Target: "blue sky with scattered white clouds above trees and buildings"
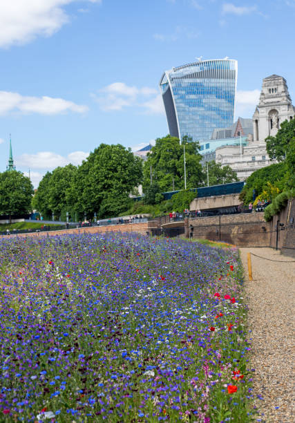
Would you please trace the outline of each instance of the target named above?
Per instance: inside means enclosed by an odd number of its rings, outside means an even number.
[[[162,72],[200,56],[238,60],[236,116],[273,73],[295,103],[294,19],[295,0],[1,1],[0,171],[10,133],[35,186],[101,142],[166,135]]]

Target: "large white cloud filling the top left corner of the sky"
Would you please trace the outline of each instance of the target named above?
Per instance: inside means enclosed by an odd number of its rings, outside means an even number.
[[[50,37],[69,21],[65,6],[76,0],[1,1],[0,47],[27,44],[38,35]],[[102,0],[83,0],[101,3]]]

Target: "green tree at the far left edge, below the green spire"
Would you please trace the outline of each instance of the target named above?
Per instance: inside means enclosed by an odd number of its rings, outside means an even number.
[[[34,189],[30,178],[19,171],[0,173],[0,214],[26,214],[31,209]]]

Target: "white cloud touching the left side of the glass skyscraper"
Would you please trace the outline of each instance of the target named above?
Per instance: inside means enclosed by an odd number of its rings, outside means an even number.
[[[158,90],[148,86],[137,88],[124,82],[114,82],[99,90],[98,94],[92,94],[92,97],[103,111],[120,111],[126,107],[137,107],[145,109],[146,113],[162,113],[157,93]]]

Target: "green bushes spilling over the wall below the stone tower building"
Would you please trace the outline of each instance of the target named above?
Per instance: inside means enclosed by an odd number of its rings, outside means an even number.
[[[253,189],[255,189],[256,196],[259,196],[263,189],[267,187],[267,182],[272,185],[276,183],[279,191],[283,191],[289,178],[287,172],[287,165],[285,162],[271,164],[253,172],[247,178],[246,185],[240,194],[240,200],[244,204],[249,204],[253,200]]]

